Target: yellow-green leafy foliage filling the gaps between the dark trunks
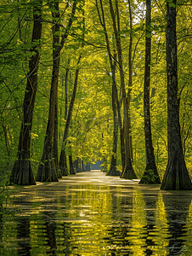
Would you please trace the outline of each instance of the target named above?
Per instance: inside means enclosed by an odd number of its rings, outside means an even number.
[[[60,55],[59,67],[59,151],[65,130],[65,74],[69,68],[68,100],[75,79],[76,62],[82,52],[76,102],[73,110],[70,134],[74,156],[85,162],[104,159],[109,168],[113,141],[113,113],[111,104],[111,74],[104,32],[94,1],[78,1],[74,24]],[[188,3],[188,1],[185,1]],[[0,174],[14,163],[17,154],[22,102],[25,93],[26,74],[31,49],[32,6],[34,1],[0,1]],[[60,35],[65,32],[71,14],[69,6],[59,2]],[[115,50],[116,42],[111,29],[108,1],[103,1],[110,47]],[[114,2],[115,3],[115,2]],[[170,2],[171,3],[171,2]],[[84,5],[83,5],[84,4]],[[133,167],[138,177],[144,170],[144,4],[131,1],[133,30],[129,29],[126,1],[119,1],[120,30],[123,69],[128,89],[128,44],[133,35],[133,87],[131,90],[131,119],[133,138]],[[184,155],[189,172],[192,172],[192,119],[191,113],[191,32],[192,15],[190,5],[178,5],[178,98],[180,99],[180,124]],[[50,81],[52,76],[52,17],[48,3],[43,3],[41,61],[38,69],[38,88],[31,131],[31,163],[34,172],[41,158],[44,134],[48,120]],[[155,160],[161,177],[167,165],[167,80],[166,80],[166,3],[152,1],[152,58],[151,58],[151,123],[155,149]],[[85,26],[82,20],[85,19]],[[186,22],[188,20],[188,22]],[[84,32],[82,45],[82,31]],[[114,54],[114,52],[113,52]],[[120,88],[118,63],[116,81]],[[121,91],[118,91],[121,96]],[[122,109],[121,109],[122,111]],[[118,170],[121,170],[120,139],[117,150]],[[153,177],[150,177],[153,178]]]

